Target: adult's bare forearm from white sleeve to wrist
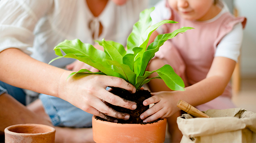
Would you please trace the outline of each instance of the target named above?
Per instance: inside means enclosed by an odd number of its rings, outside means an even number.
[[[52,96],[58,96],[59,79],[66,73],[15,48],[0,52],[0,67],[1,81]]]

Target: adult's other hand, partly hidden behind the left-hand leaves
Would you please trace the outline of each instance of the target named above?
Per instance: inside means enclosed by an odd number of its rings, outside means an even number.
[[[84,62],[81,62],[79,60],[75,60],[75,62],[73,62],[69,65],[66,65],[66,69],[72,70],[72,71],[79,71],[80,69],[88,69],[89,71],[92,71],[92,72],[99,71],[98,69],[95,69],[94,67],[92,67]]]

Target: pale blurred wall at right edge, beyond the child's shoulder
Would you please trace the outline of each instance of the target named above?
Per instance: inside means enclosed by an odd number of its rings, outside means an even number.
[[[234,0],[240,16],[247,18],[241,49],[242,78],[256,78],[256,0]]]

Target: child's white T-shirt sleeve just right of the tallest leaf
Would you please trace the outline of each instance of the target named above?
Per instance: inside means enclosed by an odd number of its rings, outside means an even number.
[[[167,7],[165,7],[166,0],[161,0],[155,5],[154,11],[150,13],[152,18],[152,25],[162,21],[167,20],[171,17],[171,11]],[[160,26],[156,29],[158,34],[163,34],[163,28]]]

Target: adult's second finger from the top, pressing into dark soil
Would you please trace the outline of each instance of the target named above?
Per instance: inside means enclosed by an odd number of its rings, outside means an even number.
[[[126,101],[123,98],[120,98],[119,96],[116,96],[115,94],[112,94],[111,92],[109,92],[107,90],[100,90],[100,91],[101,91],[101,96],[99,98],[101,98],[102,100],[104,100],[107,103],[110,103],[110,104],[116,105],[116,106],[120,106],[120,107],[124,107],[127,109],[131,109],[131,110],[134,110],[137,107],[135,102]]]

